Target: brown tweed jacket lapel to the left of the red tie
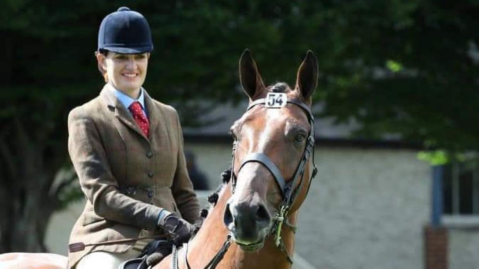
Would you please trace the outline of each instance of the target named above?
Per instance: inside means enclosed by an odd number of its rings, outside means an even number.
[[[134,121],[133,116],[131,116],[131,113],[126,110],[123,104],[121,104],[120,100],[115,97],[108,84],[105,84],[105,86],[100,92],[100,96],[105,101],[109,110],[113,110],[115,112],[116,118],[118,118],[124,125],[138,132],[139,135],[147,139],[138,124],[136,124],[136,122]]]

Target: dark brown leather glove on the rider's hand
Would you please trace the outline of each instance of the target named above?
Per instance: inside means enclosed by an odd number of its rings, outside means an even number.
[[[193,236],[195,227],[179,217],[177,213],[170,213],[160,222],[160,227],[173,236],[173,243],[181,246]]]

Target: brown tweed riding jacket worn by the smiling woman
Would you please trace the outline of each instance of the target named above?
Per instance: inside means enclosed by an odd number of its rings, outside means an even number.
[[[183,135],[174,108],[145,91],[149,137],[115,97],[110,85],[68,117],[68,148],[85,208],[70,235],[70,244],[136,238],[141,229],[157,229],[161,209],[178,212],[193,223],[199,205],[186,170]],[[88,246],[69,252],[69,268],[87,253],[124,253],[135,242]]]

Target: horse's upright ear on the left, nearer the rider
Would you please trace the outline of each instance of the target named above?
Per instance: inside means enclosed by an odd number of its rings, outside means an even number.
[[[243,52],[240,58],[240,82],[250,99],[253,99],[259,90],[264,88],[256,62],[251,57],[248,49]]]

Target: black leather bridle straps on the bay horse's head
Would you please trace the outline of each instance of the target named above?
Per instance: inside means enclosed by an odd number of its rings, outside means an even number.
[[[249,111],[250,109],[252,109],[253,107],[258,106],[258,105],[265,105],[266,102],[267,102],[266,98],[257,99],[248,106],[248,109],[246,111]],[[306,169],[306,164],[307,164],[311,154],[313,154],[313,159],[312,159],[313,160],[313,172],[312,172],[311,178],[309,180],[309,185],[307,187],[307,192],[309,192],[311,182],[312,182],[313,178],[316,176],[316,174],[318,172],[318,169],[317,169],[316,164],[314,162],[314,145],[315,145],[314,122],[315,121],[314,121],[313,114],[311,113],[311,110],[308,106],[306,106],[304,103],[298,102],[297,100],[288,98],[287,103],[300,107],[306,113],[308,121],[311,125],[311,129],[310,129],[310,132],[309,132],[307,140],[306,140],[306,146],[304,148],[303,155],[301,157],[301,160],[300,160],[298,166],[296,167],[296,171],[294,173],[293,178],[288,183],[286,183],[283,175],[281,174],[281,172],[278,169],[278,167],[276,166],[276,164],[273,161],[271,161],[271,159],[266,154],[264,154],[262,152],[255,152],[255,153],[248,154],[245,157],[245,159],[243,160],[243,162],[241,163],[240,168],[238,169],[238,174],[240,174],[241,169],[245,166],[246,163],[248,163],[248,162],[259,162],[259,163],[263,164],[268,169],[268,171],[271,173],[271,175],[273,175],[273,177],[275,178],[276,183],[278,184],[278,186],[281,190],[283,200],[280,204],[280,208],[278,210],[278,213],[273,218],[275,223],[271,226],[271,229],[269,230],[268,235],[275,234],[275,245],[277,247],[279,247],[286,254],[288,260],[291,263],[293,263],[293,260],[292,260],[291,256],[289,255],[289,253],[286,251],[284,242],[281,238],[281,229],[282,229],[283,224],[285,224],[293,232],[295,232],[295,230],[296,230],[296,227],[294,227],[288,221],[288,213],[289,213],[289,210],[291,209],[291,206],[293,205],[295,199],[298,196],[299,190],[302,189],[302,186],[303,186],[303,183],[304,183],[304,180],[303,180],[304,171]],[[236,140],[233,142],[233,152],[232,152],[233,161],[231,163],[231,186],[232,186],[231,191],[232,191],[232,193],[234,193],[234,190],[236,188],[236,181],[237,181],[237,176],[234,173],[234,160],[235,160],[235,151],[236,151],[237,143],[238,142]],[[296,185],[298,187],[294,188],[294,186],[296,186]],[[306,192],[306,195],[307,195],[307,192]]]

